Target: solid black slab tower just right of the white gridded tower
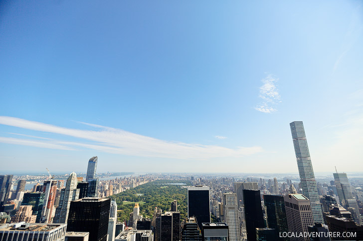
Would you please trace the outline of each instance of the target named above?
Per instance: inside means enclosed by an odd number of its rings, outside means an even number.
[[[243,190],[243,203],[248,241],[256,241],[256,228],[265,228],[259,190]]]

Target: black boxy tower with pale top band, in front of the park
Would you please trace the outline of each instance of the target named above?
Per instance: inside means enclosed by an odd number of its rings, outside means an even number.
[[[202,223],[210,223],[209,187],[188,187],[188,218],[194,216],[199,228]]]

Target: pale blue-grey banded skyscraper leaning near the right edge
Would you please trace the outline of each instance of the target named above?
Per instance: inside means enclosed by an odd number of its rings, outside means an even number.
[[[347,173],[333,173],[334,182],[337,187],[340,204],[346,209],[352,209],[352,216],[355,222],[363,225],[362,216],[359,211],[357,200],[353,197],[352,186],[349,183]]]

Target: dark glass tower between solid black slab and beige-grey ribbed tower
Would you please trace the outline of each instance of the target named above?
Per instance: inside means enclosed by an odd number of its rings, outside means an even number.
[[[267,213],[267,225],[275,229],[275,240],[287,241],[289,238],[280,238],[280,232],[289,232],[285,211],[284,197],[280,195],[263,195]]]

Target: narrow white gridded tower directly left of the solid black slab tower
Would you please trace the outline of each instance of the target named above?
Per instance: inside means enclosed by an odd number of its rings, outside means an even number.
[[[223,217],[228,225],[228,240],[240,241],[237,194],[223,193]]]

